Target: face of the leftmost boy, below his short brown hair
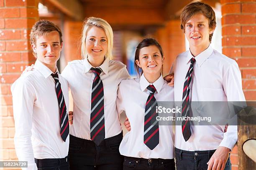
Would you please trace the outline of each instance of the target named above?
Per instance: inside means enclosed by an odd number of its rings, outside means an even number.
[[[51,31],[36,39],[32,44],[36,58],[48,67],[52,72],[56,70],[56,64],[60,57],[62,44],[60,44],[59,32]]]

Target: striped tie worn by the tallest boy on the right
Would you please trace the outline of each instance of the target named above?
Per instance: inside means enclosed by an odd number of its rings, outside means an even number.
[[[191,64],[189,66],[189,70],[187,71],[187,75],[186,75],[184,87],[183,87],[182,117],[190,117],[190,114],[189,114],[189,91],[190,91],[189,84],[192,80],[192,72],[193,72],[193,67],[194,67],[194,63],[195,63],[195,58],[191,58],[190,62],[191,62]],[[183,135],[185,141],[189,140],[189,138],[191,136],[189,120],[182,121],[182,135]]]

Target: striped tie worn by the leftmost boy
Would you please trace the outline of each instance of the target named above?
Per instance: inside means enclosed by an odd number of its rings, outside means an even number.
[[[56,72],[55,74],[52,73],[51,76],[55,80],[55,90],[56,90],[56,95],[59,103],[60,127],[61,127],[60,134],[61,134],[62,140],[66,142],[67,136],[69,135],[69,117],[67,114],[67,107],[64,100],[64,95],[61,90],[61,84],[59,82],[58,72]]]

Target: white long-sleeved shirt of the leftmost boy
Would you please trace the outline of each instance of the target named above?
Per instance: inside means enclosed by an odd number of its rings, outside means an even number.
[[[65,158],[68,155],[69,136],[66,142],[61,139],[59,104],[51,73],[36,60],[34,69],[24,73],[11,87],[15,150],[20,161],[28,161],[28,170],[37,170],[34,158]],[[68,110],[68,84],[61,75],[59,82]]]

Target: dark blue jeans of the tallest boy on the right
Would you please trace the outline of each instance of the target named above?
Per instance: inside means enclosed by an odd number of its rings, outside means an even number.
[[[206,164],[215,150],[186,151],[175,148],[175,160],[177,170],[207,170]],[[224,170],[231,170],[230,156]]]

